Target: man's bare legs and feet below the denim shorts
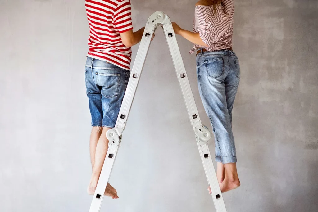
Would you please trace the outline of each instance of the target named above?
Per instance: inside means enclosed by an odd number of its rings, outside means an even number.
[[[107,127],[93,127],[92,133],[90,136],[90,155],[91,163],[93,167],[93,173],[91,181],[87,188],[87,193],[93,195],[97,186],[97,182],[100,176],[101,169],[103,167],[105,157],[108,149],[108,140],[106,138],[106,132],[110,128]],[[109,183],[105,190],[106,196],[110,196],[113,199],[117,199],[117,191]]]

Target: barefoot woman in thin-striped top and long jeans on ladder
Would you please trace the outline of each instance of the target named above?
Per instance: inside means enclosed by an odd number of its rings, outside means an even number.
[[[239,59],[232,51],[233,0],[200,0],[195,7],[193,32],[173,23],[176,34],[194,43],[197,81],[205,111],[213,126],[217,177],[222,192],[238,188],[232,109],[239,87]],[[210,187],[208,190],[211,193]]]

